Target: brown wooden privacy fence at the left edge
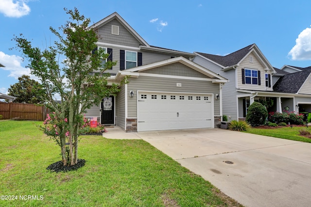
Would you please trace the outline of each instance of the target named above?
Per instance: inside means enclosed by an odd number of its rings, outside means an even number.
[[[44,121],[49,113],[43,105],[0,103],[2,119]]]

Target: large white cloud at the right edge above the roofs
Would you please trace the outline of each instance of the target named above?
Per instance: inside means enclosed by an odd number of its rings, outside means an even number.
[[[296,39],[296,45],[288,53],[292,60],[311,60],[311,28],[303,30]]]

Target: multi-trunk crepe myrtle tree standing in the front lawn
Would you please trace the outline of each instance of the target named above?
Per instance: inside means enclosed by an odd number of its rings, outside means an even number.
[[[96,29],[88,27],[90,19],[80,15],[76,8],[64,10],[69,15],[65,26],[58,30],[50,27],[52,34],[59,39],[53,46],[41,50],[32,46],[22,34],[13,39],[23,58],[29,62],[27,68],[47,90],[45,104],[52,113],[45,123],[52,123],[53,129],[47,124],[44,131],[60,146],[66,166],[77,164],[78,130],[86,109],[99,104],[104,97],[115,95],[119,86],[108,86],[109,74],[104,71],[116,62],[107,61],[103,65],[102,60],[109,54],[94,50],[100,36]],[[127,77],[121,84],[126,81]],[[54,101],[55,95],[60,96],[60,103]]]

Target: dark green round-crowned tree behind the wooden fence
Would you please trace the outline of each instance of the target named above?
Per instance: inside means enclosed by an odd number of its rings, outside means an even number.
[[[15,96],[15,103],[41,104],[45,97],[44,87],[39,82],[30,78],[29,75],[22,75],[18,82],[8,89],[8,95]]]

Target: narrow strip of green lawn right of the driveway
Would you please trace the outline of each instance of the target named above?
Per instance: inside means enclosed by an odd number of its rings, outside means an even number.
[[[299,130],[308,130],[311,132],[311,126],[307,127],[282,127],[272,129],[249,128],[246,133],[264,135],[268,137],[291,139],[295,141],[303,141],[311,143],[311,138],[299,136]]]

